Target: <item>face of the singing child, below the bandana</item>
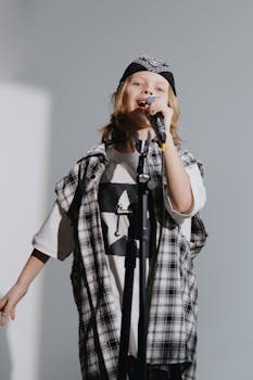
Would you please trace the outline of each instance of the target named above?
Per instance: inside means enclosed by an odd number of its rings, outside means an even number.
[[[124,112],[144,112],[148,107],[144,102],[149,96],[156,96],[168,104],[168,81],[160,74],[146,71],[132,74],[123,96]]]

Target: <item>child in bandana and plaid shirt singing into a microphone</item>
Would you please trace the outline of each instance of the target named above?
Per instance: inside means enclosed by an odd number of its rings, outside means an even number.
[[[165,144],[161,144],[153,128],[152,117],[157,114],[166,131]],[[79,313],[84,379],[117,378],[124,256],[127,241],[134,239],[138,244],[139,238],[136,147],[143,140],[149,143],[152,181],[147,255],[149,379],[195,379],[193,258],[207,236],[199,215],[205,203],[205,188],[201,163],[180,148],[178,117],[169,66],[144,55],[132,61],[114,93],[114,112],[102,129],[102,143],[56,185],[56,201],[34,237],[34,251],[16,283],[0,301],[0,324],[4,325],[9,315],[15,318],[17,302],[48,258],[63,259],[73,252],[71,278]],[[138,307],[137,258],[128,357],[131,380],[141,379],[137,359]]]

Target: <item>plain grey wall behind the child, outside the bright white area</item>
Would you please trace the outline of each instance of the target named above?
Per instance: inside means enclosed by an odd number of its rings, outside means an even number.
[[[126,64],[143,52],[170,62],[180,135],[204,162],[208,193],[208,244],[197,261],[198,379],[252,380],[252,0],[8,0],[0,8],[0,80],[53,97],[49,207],[54,182],[98,141]],[[69,270],[71,259],[46,268],[38,380],[80,379]]]

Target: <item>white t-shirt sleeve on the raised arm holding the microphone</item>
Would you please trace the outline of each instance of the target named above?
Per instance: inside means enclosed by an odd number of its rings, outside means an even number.
[[[205,187],[198,164],[189,165],[185,167],[185,169],[189,175],[191,191],[193,195],[193,206],[191,211],[189,213],[184,214],[179,213],[176,210],[174,210],[169,195],[167,194],[167,197],[165,198],[165,206],[169,215],[178,225],[181,225],[186,218],[191,218],[193,215],[195,215],[201,208],[203,208],[206,202]]]

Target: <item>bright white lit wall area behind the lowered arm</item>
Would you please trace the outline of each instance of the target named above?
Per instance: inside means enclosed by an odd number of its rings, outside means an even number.
[[[51,99],[45,90],[0,84],[0,293],[12,286],[30,251],[47,204]],[[0,330],[4,380],[38,378],[41,275]],[[4,376],[4,378],[2,378]]]

